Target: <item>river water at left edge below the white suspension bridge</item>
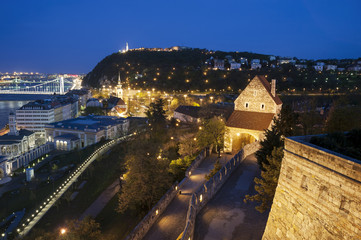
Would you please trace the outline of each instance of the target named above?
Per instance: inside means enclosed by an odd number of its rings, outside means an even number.
[[[9,113],[15,112],[24,104],[36,100],[46,99],[51,95],[21,95],[21,94],[0,94],[0,129],[9,123]]]

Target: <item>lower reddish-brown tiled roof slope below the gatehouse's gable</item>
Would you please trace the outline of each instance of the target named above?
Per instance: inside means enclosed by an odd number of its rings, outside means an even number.
[[[233,111],[226,125],[227,127],[244,128],[263,131],[269,127],[274,117],[273,113],[249,111]]]

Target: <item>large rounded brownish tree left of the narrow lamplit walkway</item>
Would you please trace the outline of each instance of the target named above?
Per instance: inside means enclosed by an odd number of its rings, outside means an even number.
[[[135,141],[127,154],[125,181],[118,195],[118,211],[128,208],[149,211],[171,185],[169,161],[159,155],[153,141]]]

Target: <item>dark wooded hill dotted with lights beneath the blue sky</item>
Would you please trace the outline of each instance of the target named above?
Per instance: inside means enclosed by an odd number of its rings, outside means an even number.
[[[212,70],[214,59],[240,62],[238,69]],[[228,60],[230,59],[230,60]],[[260,59],[262,68],[251,70],[251,60]],[[360,75],[350,71],[316,71],[313,61],[300,61],[305,68],[297,69],[292,64],[279,64],[280,58],[269,60],[269,55],[249,52],[222,52],[206,49],[184,48],[171,51],[164,49],[136,49],[124,53],[113,53],[100,61],[88,73],[83,85],[99,88],[115,86],[118,73],[124,87],[162,91],[227,91],[243,89],[255,75],[267,75],[277,79],[278,91],[347,92],[361,88]],[[350,61],[351,62],[351,61]],[[340,63],[339,63],[340,64]]]

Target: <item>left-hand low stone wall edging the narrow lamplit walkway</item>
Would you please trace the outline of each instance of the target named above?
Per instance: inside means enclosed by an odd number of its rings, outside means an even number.
[[[164,212],[168,205],[173,201],[174,197],[177,195],[179,189],[183,186],[187,178],[189,177],[189,172],[194,168],[198,167],[203,159],[208,155],[209,149],[204,149],[192,162],[186,171],[186,177],[177,185],[173,185],[166,194],[157,202],[157,204],[148,212],[148,214],[138,223],[138,225],[133,229],[133,231],[126,237],[126,240],[140,240],[142,239],[153,224],[157,221],[159,216]]]

